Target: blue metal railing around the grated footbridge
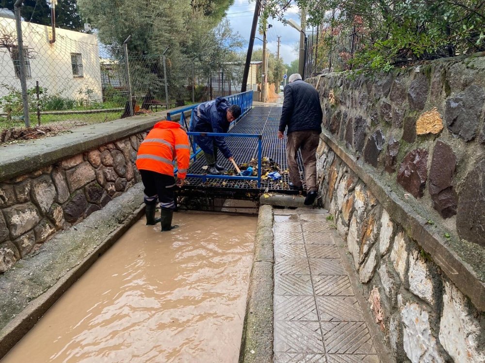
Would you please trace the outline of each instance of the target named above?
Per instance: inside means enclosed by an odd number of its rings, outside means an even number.
[[[235,125],[239,120],[241,120],[242,116],[248,112],[253,107],[253,91],[246,91],[242,93],[233,94],[231,96],[225,97],[232,105],[238,105],[241,107],[241,116],[238,117],[236,120],[231,122],[231,126]],[[199,106],[199,104],[187,106],[184,108],[180,108],[175,111],[167,112],[167,120],[172,121],[172,117],[175,115],[180,114],[179,123],[184,126],[187,130],[190,130],[190,126],[192,124],[192,115],[194,114],[194,109]],[[185,116],[185,112],[191,111],[190,119],[187,120]],[[261,187],[261,155],[262,155],[262,135],[254,135],[254,134],[218,134],[218,133],[200,133],[200,132],[187,132],[187,135],[190,139],[190,144],[192,147],[192,155],[191,160],[194,161],[197,158],[197,155],[202,151],[195,140],[191,136],[224,136],[224,137],[248,137],[248,138],[258,138],[258,176],[232,176],[232,175],[210,175],[210,174],[187,174],[187,178],[199,178],[202,179],[203,182],[207,181],[207,179],[229,179],[229,180],[255,180],[258,181],[258,188]],[[177,174],[178,169],[174,171]]]

